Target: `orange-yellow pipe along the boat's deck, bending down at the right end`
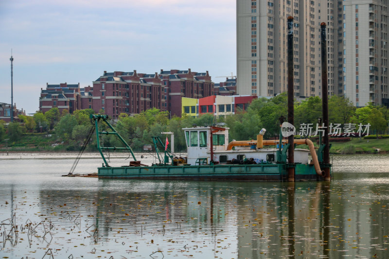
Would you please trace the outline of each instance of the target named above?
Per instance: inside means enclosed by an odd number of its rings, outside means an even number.
[[[257,139],[258,139],[258,137],[257,137]],[[262,145],[263,146],[275,145],[275,144],[278,144],[279,142],[280,142],[280,140],[262,140]],[[288,143],[288,140],[282,140],[282,142]],[[309,140],[308,138],[306,138],[306,139],[294,139],[294,143],[298,144],[298,145],[308,145],[309,152],[311,153],[312,160],[313,160],[313,163],[315,166],[315,171],[318,175],[323,176],[324,171],[322,171],[320,169],[318,155],[316,154],[315,146],[314,146],[313,142],[311,140]],[[232,147],[234,147],[234,146],[249,146],[249,145],[253,145],[253,144],[257,144],[257,140],[231,141],[227,146],[227,150],[231,150]]]

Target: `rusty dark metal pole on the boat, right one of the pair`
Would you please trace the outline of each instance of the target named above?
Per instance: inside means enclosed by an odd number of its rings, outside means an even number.
[[[321,29],[321,98],[323,107],[323,123],[324,123],[324,136],[323,136],[323,162],[325,164],[330,163],[330,142],[328,139],[328,75],[327,75],[327,35],[326,24],[322,22],[320,24]],[[324,168],[324,180],[330,181],[330,168]]]

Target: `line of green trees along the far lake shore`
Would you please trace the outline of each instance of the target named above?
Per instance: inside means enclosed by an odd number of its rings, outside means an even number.
[[[312,123],[316,126],[322,116],[321,99],[310,97],[301,102],[295,102],[294,125],[297,129],[302,123]],[[383,134],[388,128],[389,109],[385,106],[371,104],[356,108],[353,103],[339,96],[332,96],[328,102],[329,122],[339,123],[370,123],[370,134]],[[88,132],[93,127],[89,115],[92,109],[76,110],[69,114],[67,110],[59,112],[58,108],[49,111],[36,112],[33,116],[19,116],[20,122],[6,125],[0,121],[0,141],[8,138],[18,141],[27,133],[50,133],[66,150],[79,150]],[[100,113],[103,113],[101,110]],[[120,114],[118,120],[112,121],[117,131],[124,137],[134,151],[142,151],[144,144],[152,144],[151,137],[161,137],[161,132],[174,132],[175,150],[185,151],[186,143],[182,128],[207,126],[217,123],[230,128],[229,139],[255,139],[262,128],[266,129],[265,139],[277,137],[279,134],[279,118],[287,118],[287,96],[280,94],[273,98],[259,98],[252,101],[245,111],[237,109],[235,114],[214,118],[212,114],[204,114],[194,118],[183,114],[181,117],[169,118],[169,113],[152,108],[140,114],[129,116]],[[103,130],[106,126],[102,125]],[[95,135],[92,136],[89,150],[96,150]],[[119,146],[119,140],[114,135],[104,136],[105,146]]]

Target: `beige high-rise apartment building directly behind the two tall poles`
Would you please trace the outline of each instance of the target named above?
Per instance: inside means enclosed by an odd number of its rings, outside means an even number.
[[[321,96],[323,21],[327,24],[328,94],[342,94],[342,1],[237,0],[236,9],[238,94],[274,96],[287,90],[289,16],[294,17],[295,97]]]

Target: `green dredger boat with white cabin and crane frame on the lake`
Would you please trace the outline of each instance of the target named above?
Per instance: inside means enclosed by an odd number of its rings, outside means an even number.
[[[229,128],[207,126],[184,128],[187,143],[187,157],[174,157],[165,148],[159,138],[153,137],[158,157],[157,142],[165,149],[164,157],[158,164],[142,165],[131,150],[131,147],[107,121],[107,115],[90,115],[95,122],[97,146],[104,160],[98,168],[99,178],[127,179],[180,179],[180,180],[244,180],[244,181],[290,181],[288,170],[294,168],[294,180],[323,180],[324,170],[331,172],[332,165],[323,163],[321,144],[316,153],[309,139],[295,139],[294,163],[287,162],[287,140],[282,140],[281,129],[279,140],[263,140],[265,129],[257,140],[228,142]],[[99,131],[98,122],[105,122],[111,132]],[[99,139],[103,135],[114,134],[124,147],[103,147]],[[268,145],[278,148],[264,148]],[[308,149],[296,148],[296,144],[306,144]],[[111,167],[103,153],[104,150],[127,150],[133,161],[121,167]],[[308,155],[312,156],[309,162]]]

